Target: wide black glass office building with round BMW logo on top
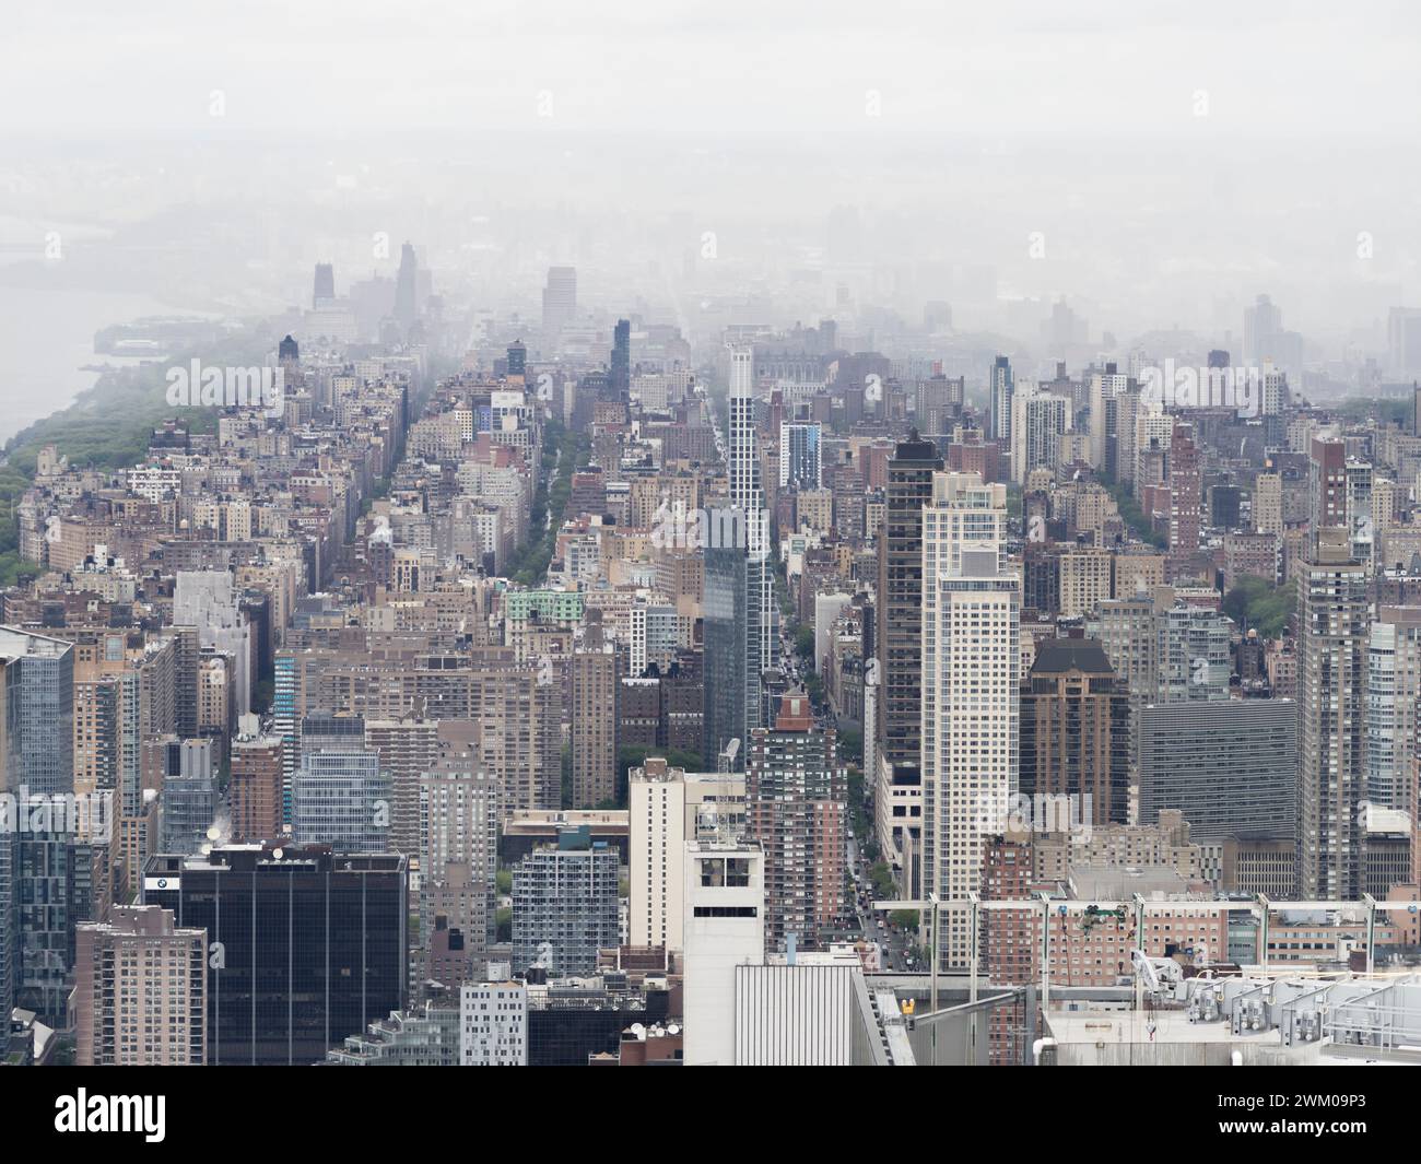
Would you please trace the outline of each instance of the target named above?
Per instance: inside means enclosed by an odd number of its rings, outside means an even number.
[[[142,901],[203,927],[212,1063],[315,1063],[408,1002],[406,858],[236,844],[151,857]]]

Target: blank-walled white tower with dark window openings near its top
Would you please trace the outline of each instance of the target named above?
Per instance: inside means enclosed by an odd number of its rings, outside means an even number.
[[[764,854],[742,840],[686,844],[685,1062],[735,1063],[736,966],[764,961]]]

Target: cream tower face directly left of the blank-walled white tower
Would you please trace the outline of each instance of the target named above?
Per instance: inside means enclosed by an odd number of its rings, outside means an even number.
[[[686,782],[679,767],[648,758],[628,773],[631,853],[628,934],[634,947],[681,949],[686,858]]]

